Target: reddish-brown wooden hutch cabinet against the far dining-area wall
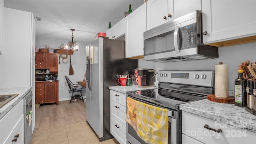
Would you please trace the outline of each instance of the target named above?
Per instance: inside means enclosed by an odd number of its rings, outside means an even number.
[[[46,75],[49,77],[48,80],[45,78]],[[58,53],[36,52],[36,103],[59,104],[57,76]]]

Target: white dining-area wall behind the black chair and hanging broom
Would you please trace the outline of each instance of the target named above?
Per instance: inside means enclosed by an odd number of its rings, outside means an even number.
[[[68,43],[70,39],[48,39],[45,37],[36,38],[36,45],[50,45],[51,48],[59,48],[61,44]],[[71,64],[74,70],[74,75],[69,75],[70,69],[70,56],[68,56],[68,62],[65,64],[60,58],[60,64],[58,64],[58,79],[59,79],[59,101],[70,100],[68,84],[66,84],[65,75],[76,84],[77,81],[82,81],[84,79],[84,72],[86,72],[86,44],[90,43],[77,42],[80,49],[71,55]],[[78,93],[80,94],[80,92]],[[82,92],[84,98],[86,98],[86,90]]]

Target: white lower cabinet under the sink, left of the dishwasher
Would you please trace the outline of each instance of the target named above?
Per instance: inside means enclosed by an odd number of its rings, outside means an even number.
[[[0,144],[24,144],[23,99],[0,120]]]

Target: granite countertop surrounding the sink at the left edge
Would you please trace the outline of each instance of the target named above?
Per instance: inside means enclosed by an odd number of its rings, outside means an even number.
[[[4,117],[4,115],[7,114],[14,106],[16,106],[16,104],[18,104],[18,102],[20,102],[22,98],[26,96],[28,92],[30,92],[30,90],[32,90],[31,87],[0,88],[0,95],[19,94],[2,108],[0,108],[0,119]]]

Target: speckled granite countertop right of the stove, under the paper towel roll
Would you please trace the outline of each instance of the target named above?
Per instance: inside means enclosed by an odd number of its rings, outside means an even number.
[[[204,99],[181,104],[180,110],[256,132],[256,116],[234,104],[222,104]]]

